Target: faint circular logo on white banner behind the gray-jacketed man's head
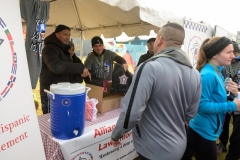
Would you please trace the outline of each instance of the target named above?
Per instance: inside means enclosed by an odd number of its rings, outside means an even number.
[[[193,66],[196,66],[198,60],[198,51],[202,44],[202,40],[198,36],[193,36],[188,43],[188,57]]]

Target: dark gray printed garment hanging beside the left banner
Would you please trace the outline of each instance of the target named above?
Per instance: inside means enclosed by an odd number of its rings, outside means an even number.
[[[42,47],[46,22],[49,18],[50,2],[40,0],[21,0],[21,16],[27,24],[26,54],[32,89],[36,88],[41,71]]]

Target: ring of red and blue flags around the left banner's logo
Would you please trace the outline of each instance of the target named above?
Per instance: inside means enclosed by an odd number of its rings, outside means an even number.
[[[16,82],[16,73],[17,73],[17,53],[14,49],[14,41],[12,38],[12,35],[7,28],[7,25],[3,21],[3,19],[0,17],[0,29],[3,29],[4,35],[6,36],[4,39],[1,39],[0,47],[5,42],[9,44],[9,49],[11,51],[11,70],[9,71],[9,78],[6,80],[6,84],[3,88],[0,88],[0,101],[2,101],[10,92],[10,90],[13,88],[14,83]],[[7,52],[7,54],[9,54]],[[3,68],[4,69],[4,68]]]

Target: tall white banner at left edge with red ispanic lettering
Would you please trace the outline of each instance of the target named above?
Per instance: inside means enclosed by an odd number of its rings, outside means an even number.
[[[19,1],[0,4],[0,159],[44,160]]]

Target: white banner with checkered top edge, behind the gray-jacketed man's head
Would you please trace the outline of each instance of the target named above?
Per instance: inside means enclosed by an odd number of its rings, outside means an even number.
[[[184,51],[192,65],[196,66],[200,46],[205,39],[212,37],[212,28],[189,20],[184,20],[183,25],[185,29]]]

